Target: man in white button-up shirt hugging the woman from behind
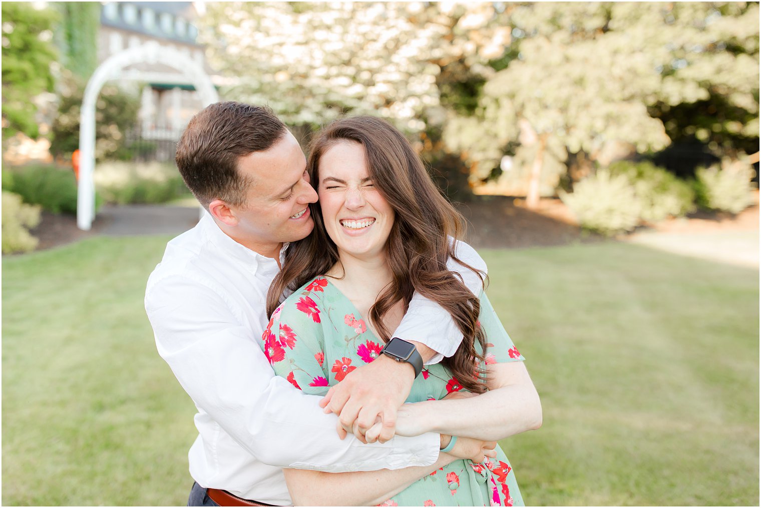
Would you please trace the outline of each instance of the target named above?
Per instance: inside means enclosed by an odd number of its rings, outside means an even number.
[[[419,373],[416,354],[435,363],[457,350],[462,334],[451,316],[416,295],[392,339],[414,346],[410,360],[382,354],[321,402],[304,395],[274,376],[256,342],[269,321],[266,294],[283,245],[314,227],[309,204],[317,193],[298,141],[267,108],[216,103],[189,122],[177,167],[209,214],[167,244],[148,280],[145,309],[159,354],[198,409],[189,505],[287,505],[282,468],[409,468],[412,480],[431,472],[444,440],[394,437],[396,410]],[[459,244],[457,255],[486,271],[470,246]],[[460,273],[480,290],[472,271]],[[358,438],[344,440],[346,430]]]

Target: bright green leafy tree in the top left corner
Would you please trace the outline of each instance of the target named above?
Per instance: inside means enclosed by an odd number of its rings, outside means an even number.
[[[53,26],[57,15],[25,2],[2,3],[2,132],[30,138],[40,134],[34,98],[53,90],[56,61]]]

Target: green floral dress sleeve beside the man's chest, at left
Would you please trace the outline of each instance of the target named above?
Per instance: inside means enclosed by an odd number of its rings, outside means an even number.
[[[275,374],[311,395],[325,395],[330,388],[323,368],[324,344],[317,303],[301,294],[272,313],[260,341]]]

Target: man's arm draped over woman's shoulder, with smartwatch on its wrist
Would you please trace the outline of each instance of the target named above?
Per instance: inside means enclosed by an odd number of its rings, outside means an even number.
[[[455,256],[486,274],[486,263],[467,243],[455,244]],[[459,273],[473,294],[478,296],[481,293],[482,279],[473,270],[454,259],[447,262],[447,268]],[[450,357],[463,340],[451,314],[417,293],[412,296],[407,313],[393,336],[415,344],[425,364],[438,363],[442,355]],[[337,430],[342,437],[356,427],[355,436],[364,441],[365,432],[380,419],[383,429],[378,440],[384,443],[393,437],[396,410],[406,401],[414,381],[415,371],[411,365],[380,356],[331,387],[320,405],[326,412],[339,415]]]

